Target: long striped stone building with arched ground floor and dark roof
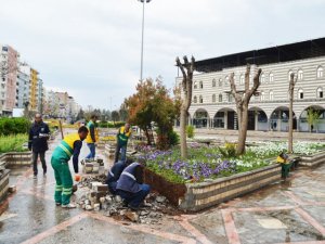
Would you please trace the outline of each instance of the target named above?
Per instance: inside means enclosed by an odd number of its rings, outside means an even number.
[[[192,125],[237,129],[229,79],[234,73],[237,90],[244,91],[247,63],[251,64],[250,86],[253,74],[262,69],[259,95],[249,103],[249,130],[288,130],[289,77],[295,73],[294,129],[325,132],[325,38],[197,61],[190,107]],[[320,115],[314,125],[308,123],[311,110]]]

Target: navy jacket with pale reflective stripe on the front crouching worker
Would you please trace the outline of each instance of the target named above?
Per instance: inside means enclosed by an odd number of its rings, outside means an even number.
[[[122,174],[120,175],[116,189],[122,190],[126,192],[136,193],[141,191],[140,184],[136,182],[135,179],[135,168],[139,167],[139,163],[130,164]]]

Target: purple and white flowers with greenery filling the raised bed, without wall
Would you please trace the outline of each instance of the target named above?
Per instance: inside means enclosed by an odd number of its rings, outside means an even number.
[[[297,142],[294,144],[296,155],[311,155],[324,150],[325,143]],[[209,147],[193,143],[188,146],[188,159],[181,158],[178,147],[170,151],[157,151],[150,146],[138,149],[139,158],[146,162],[146,167],[173,183],[202,182],[246,172],[268,166],[287,149],[287,143],[268,142],[249,146],[246,154],[238,157],[225,157],[219,147]]]

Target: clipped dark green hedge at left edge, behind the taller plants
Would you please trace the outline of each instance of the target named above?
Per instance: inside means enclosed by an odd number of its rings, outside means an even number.
[[[26,118],[0,118],[0,134],[27,133],[30,121]]]

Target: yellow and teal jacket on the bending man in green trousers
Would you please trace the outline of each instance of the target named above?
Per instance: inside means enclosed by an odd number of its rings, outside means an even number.
[[[53,156],[58,159],[69,160],[74,154],[74,144],[76,141],[81,141],[78,133],[69,133],[65,136],[62,142],[54,150]]]

